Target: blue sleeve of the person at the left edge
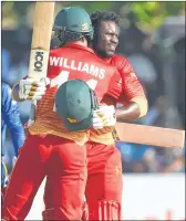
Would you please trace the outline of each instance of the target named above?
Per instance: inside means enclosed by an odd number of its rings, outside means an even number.
[[[22,147],[25,134],[20,119],[18,103],[11,97],[11,88],[6,85],[2,93],[2,116],[3,120],[10,130],[14,152],[18,156],[18,149]]]

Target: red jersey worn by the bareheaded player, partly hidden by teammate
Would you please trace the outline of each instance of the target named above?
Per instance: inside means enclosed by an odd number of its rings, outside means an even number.
[[[144,90],[135,75],[131,63],[122,56],[114,55],[108,59],[104,59],[108,64],[112,64],[117,69],[111,80],[107,95],[104,96],[102,103],[105,105],[114,105],[116,103],[127,104],[133,98],[145,98]],[[90,140],[108,144],[111,141],[111,128],[105,127],[102,130],[91,130]],[[111,143],[110,143],[111,144]]]

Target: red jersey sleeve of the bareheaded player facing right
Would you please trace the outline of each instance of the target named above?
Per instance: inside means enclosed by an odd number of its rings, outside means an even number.
[[[147,99],[131,63],[125,57],[114,56],[112,64],[117,71],[111,80],[107,94],[123,105],[135,102],[141,109],[141,117],[144,116],[147,112]]]

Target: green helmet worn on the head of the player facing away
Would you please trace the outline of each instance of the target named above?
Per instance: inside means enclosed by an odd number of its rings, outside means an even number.
[[[90,15],[80,7],[62,9],[55,17],[53,31],[54,40],[60,40],[60,44],[66,41],[78,41],[83,36],[87,36],[90,40],[93,39]]]

